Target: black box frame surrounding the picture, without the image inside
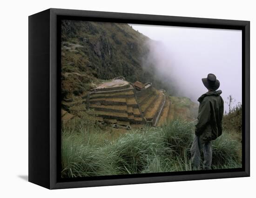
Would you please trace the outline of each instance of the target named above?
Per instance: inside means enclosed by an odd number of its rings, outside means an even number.
[[[165,26],[206,27],[242,30],[242,168],[60,178],[60,20],[90,20]],[[250,175],[250,23],[133,13],[110,13],[67,9],[48,9],[29,16],[29,161],[28,180],[48,189],[126,185],[196,179],[249,177]]]

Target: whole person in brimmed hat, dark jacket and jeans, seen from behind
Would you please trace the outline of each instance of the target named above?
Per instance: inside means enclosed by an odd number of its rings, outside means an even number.
[[[197,124],[191,152],[192,170],[200,170],[201,151],[203,151],[203,169],[210,170],[212,163],[212,140],[222,134],[222,117],[224,102],[220,96],[222,91],[217,90],[220,86],[219,80],[212,73],[202,79],[203,85],[208,92],[199,97]],[[217,91],[216,91],[217,90]]]

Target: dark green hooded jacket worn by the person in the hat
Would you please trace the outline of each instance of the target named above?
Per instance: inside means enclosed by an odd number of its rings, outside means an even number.
[[[198,99],[200,105],[195,135],[199,136],[202,143],[214,140],[222,134],[224,102],[221,93],[221,90],[209,91]]]

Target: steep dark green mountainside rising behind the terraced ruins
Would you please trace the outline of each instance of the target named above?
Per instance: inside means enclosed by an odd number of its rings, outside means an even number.
[[[150,41],[152,40],[135,31],[128,24],[63,20],[61,24],[63,115],[68,119],[81,116],[78,112],[85,111],[88,91],[120,76],[131,83],[151,82],[156,89],[164,89],[167,94],[173,95],[172,85],[165,83],[164,79],[155,77],[156,66],[149,64],[147,68],[142,68],[142,63],[149,54]],[[171,100],[176,104],[179,103],[177,101],[183,101],[175,98]],[[179,108],[179,105],[175,106]],[[191,106],[194,108],[192,102]],[[187,110],[180,112],[189,114]],[[163,113],[167,114],[167,112]]]

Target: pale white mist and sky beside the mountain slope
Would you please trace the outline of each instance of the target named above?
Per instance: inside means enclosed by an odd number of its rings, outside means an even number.
[[[143,68],[153,65],[155,77],[175,87],[176,96],[198,103],[197,99],[208,91],[202,78],[214,73],[223,100],[232,95],[234,105],[242,103],[241,30],[130,25],[151,39]],[[226,103],[224,108],[228,112]]]

